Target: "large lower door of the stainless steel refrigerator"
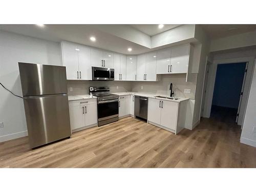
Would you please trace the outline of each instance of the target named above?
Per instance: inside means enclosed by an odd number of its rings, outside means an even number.
[[[68,95],[24,97],[31,148],[71,136]]]

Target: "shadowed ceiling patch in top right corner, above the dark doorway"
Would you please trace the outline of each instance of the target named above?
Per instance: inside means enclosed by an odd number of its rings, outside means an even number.
[[[256,30],[256,25],[201,25],[210,38],[220,38]]]

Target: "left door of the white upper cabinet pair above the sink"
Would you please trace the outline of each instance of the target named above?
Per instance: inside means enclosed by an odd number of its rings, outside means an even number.
[[[166,74],[170,71],[171,49],[162,49],[157,52],[157,74]]]

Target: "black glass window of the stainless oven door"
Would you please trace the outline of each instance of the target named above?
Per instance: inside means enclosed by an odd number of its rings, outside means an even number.
[[[118,114],[118,101],[98,104],[98,119]]]

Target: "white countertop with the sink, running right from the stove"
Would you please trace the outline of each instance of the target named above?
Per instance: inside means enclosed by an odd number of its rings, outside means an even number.
[[[113,94],[116,94],[116,95],[119,95],[119,96],[137,95],[137,96],[142,96],[142,97],[155,98],[155,99],[166,100],[166,101],[173,101],[173,102],[181,102],[181,101],[185,101],[185,100],[189,99],[189,98],[181,98],[181,97],[179,97],[179,99],[177,99],[177,100],[172,100],[172,99],[156,97],[156,96],[169,97],[168,95],[159,95],[159,94],[142,93],[142,92],[117,92],[117,93],[113,93]]]

